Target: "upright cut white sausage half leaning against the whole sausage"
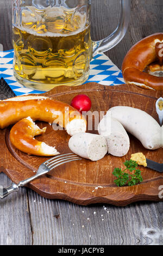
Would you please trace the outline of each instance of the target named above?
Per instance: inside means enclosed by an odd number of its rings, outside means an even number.
[[[130,140],[126,130],[116,119],[105,115],[98,125],[98,133],[106,138],[108,153],[113,156],[124,156],[128,153]]]

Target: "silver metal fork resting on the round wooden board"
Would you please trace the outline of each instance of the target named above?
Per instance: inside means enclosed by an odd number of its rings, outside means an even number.
[[[53,158],[43,162],[39,166],[39,169],[37,170],[37,173],[34,176],[26,180],[22,180],[18,184],[15,184],[14,182],[12,182],[12,184],[7,188],[0,187],[0,198],[3,199],[7,197],[9,194],[11,194],[12,192],[17,192],[20,187],[25,186],[26,184],[42,176],[43,174],[51,172],[52,169],[60,166],[61,164],[76,161],[76,160],[82,160],[82,159],[73,153],[54,156]]]

